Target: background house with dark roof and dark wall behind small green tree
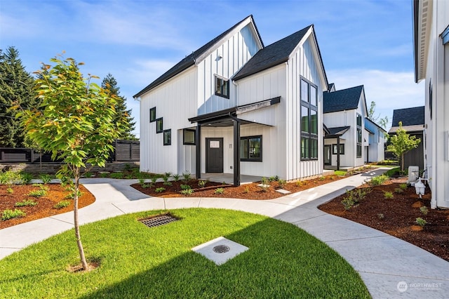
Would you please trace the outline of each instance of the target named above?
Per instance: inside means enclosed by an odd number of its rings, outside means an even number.
[[[419,166],[420,171],[422,171],[424,169],[424,106],[394,109],[393,121],[388,131],[389,135],[396,133],[399,128],[399,121],[402,122],[402,128],[410,136],[415,136],[421,140],[417,148],[404,154],[404,169],[408,169],[410,165],[415,165]]]

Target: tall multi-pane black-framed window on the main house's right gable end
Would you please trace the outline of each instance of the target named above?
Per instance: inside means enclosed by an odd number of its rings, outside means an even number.
[[[318,159],[318,93],[316,86],[301,78],[301,159]]]

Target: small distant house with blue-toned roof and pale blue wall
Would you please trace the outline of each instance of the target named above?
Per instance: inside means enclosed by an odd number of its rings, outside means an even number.
[[[385,159],[385,134],[387,131],[374,121],[365,119],[365,130],[368,132],[368,151],[365,161],[378,162]]]

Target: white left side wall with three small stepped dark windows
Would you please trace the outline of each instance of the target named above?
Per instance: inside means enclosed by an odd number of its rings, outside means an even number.
[[[151,173],[177,173],[177,143],[180,128],[192,126],[196,115],[197,68],[190,67],[140,98],[140,170]],[[163,129],[171,129],[171,145],[163,145],[163,133],[156,134],[156,121],[149,122],[149,109],[156,107],[156,119],[163,118]]]

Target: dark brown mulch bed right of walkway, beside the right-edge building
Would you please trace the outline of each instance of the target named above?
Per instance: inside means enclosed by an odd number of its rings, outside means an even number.
[[[390,180],[373,187],[366,199],[349,211],[344,210],[341,203],[346,195],[319,206],[319,209],[386,232],[449,261],[449,210],[430,208],[429,187],[420,199],[415,187],[411,186],[402,193],[395,193],[399,185],[398,180]],[[394,199],[384,199],[384,192],[393,192]],[[421,206],[427,207],[427,215],[420,211]],[[420,227],[415,223],[416,218],[423,218],[427,224]]]

